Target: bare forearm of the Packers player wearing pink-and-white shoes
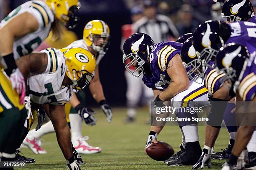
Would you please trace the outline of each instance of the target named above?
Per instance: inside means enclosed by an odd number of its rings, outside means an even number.
[[[99,103],[101,100],[105,100],[103,88],[100,79],[92,81],[89,86],[92,97]]]

